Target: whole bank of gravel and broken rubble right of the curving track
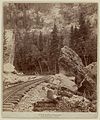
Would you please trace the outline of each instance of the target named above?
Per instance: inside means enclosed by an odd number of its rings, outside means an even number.
[[[92,104],[83,96],[78,96],[65,87],[56,88],[51,83],[41,83],[35,88],[30,89],[18,105],[14,108],[15,112],[32,111],[70,111],[70,112],[93,112],[96,111],[96,104]],[[56,102],[56,106],[49,106],[49,102]],[[50,102],[50,104],[51,104]],[[46,105],[42,108],[41,104]],[[92,109],[92,110],[90,110]],[[94,110],[93,110],[94,109]]]

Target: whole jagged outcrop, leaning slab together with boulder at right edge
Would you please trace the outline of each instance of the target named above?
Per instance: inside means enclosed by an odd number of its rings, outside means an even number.
[[[75,76],[78,92],[90,100],[96,100],[97,64],[91,63],[85,67],[81,58],[70,48],[64,46],[59,58],[60,73]],[[67,80],[67,79],[66,79]]]

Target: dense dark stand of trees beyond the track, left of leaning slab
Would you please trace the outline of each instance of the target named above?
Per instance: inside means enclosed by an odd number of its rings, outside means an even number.
[[[18,71],[26,74],[55,74],[59,72],[58,58],[60,49],[57,26],[49,36],[45,36],[42,32],[39,35],[25,32],[21,37],[20,31],[15,36],[15,58],[14,65]],[[63,41],[63,39],[62,39]]]

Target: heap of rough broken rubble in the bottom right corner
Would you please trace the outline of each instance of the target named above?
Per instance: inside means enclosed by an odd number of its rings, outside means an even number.
[[[73,95],[71,98],[63,97],[60,103],[61,110],[66,112],[96,112],[96,104],[93,104],[83,96]],[[61,111],[60,110],[60,111]]]

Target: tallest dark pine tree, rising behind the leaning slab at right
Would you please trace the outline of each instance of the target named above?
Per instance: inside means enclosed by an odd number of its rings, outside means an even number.
[[[74,36],[77,36],[77,46],[75,47],[76,48],[76,52],[77,54],[81,57],[82,61],[83,61],[83,64],[85,66],[87,66],[89,63],[88,63],[88,57],[90,56],[89,55],[89,51],[88,51],[88,47],[87,45],[89,45],[90,43],[88,42],[89,41],[89,37],[90,37],[90,24],[89,22],[86,22],[85,20],[85,16],[84,14],[81,12],[80,13],[80,17],[79,17],[79,30],[75,30],[77,31],[76,32],[76,35]]]

